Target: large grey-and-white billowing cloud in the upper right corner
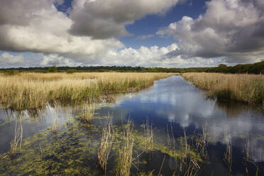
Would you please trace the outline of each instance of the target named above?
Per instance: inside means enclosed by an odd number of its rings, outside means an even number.
[[[212,0],[206,4],[207,11],[199,18],[184,16],[156,33],[179,41],[180,49],[169,55],[260,61],[264,51],[263,1]]]

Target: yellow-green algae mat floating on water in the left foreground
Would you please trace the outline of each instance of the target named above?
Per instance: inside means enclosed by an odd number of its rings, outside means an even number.
[[[101,118],[107,121],[107,118]],[[125,126],[125,125],[123,125]],[[116,158],[120,141],[123,138],[123,127],[113,126],[114,145],[109,160],[107,175],[115,175]],[[23,139],[23,150],[15,157],[8,153],[0,155],[0,175],[103,175],[97,167],[97,148],[101,138],[102,126],[82,123],[78,120],[66,121],[58,126],[56,134],[51,128],[45,128],[33,136]],[[159,133],[159,132],[157,132]],[[145,158],[145,134],[142,128],[134,128],[132,133],[133,165],[139,168],[151,165],[153,158]],[[190,137],[189,137],[190,138]],[[184,138],[176,138],[177,148],[172,150],[164,144],[163,136],[154,135],[153,153],[163,153],[171,158],[183,158]],[[194,148],[188,148],[187,157],[203,162]],[[135,167],[132,166],[132,170]],[[153,174],[151,170],[137,172],[138,175]]]

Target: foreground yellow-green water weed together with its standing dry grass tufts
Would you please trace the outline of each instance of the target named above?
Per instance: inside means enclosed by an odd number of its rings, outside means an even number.
[[[170,129],[167,128],[166,139],[166,133],[155,133],[153,123],[148,120],[145,121],[144,128],[137,128],[131,121],[115,126],[111,117],[100,121],[102,126],[77,120],[69,126],[66,121],[57,127],[60,130],[55,136],[47,128],[24,139],[24,150],[20,150],[21,153],[16,158],[8,153],[0,154],[0,175],[192,176],[202,175],[202,170],[208,163],[208,158],[204,157],[208,144],[207,123],[200,135],[194,133],[187,136],[184,128],[182,136],[177,138],[170,126]],[[22,127],[16,128],[18,131],[22,130]],[[20,136],[21,132],[17,134]],[[226,164],[227,173],[232,169],[232,144],[227,133],[223,134],[223,138],[226,143],[223,163]],[[19,148],[22,140],[16,141]],[[144,155],[148,155],[145,145],[150,142],[155,156],[152,158]],[[248,162],[248,144],[246,158]]]

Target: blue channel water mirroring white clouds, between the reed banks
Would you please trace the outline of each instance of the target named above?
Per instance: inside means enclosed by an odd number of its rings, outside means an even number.
[[[99,113],[109,111],[114,114],[115,123],[121,123],[121,116],[133,119],[135,123],[143,123],[148,117],[157,128],[173,123],[178,128],[176,133],[192,126],[199,131],[208,121],[207,130],[212,145],[224,143],[226,131],[234,141],[233,147],[243,152],[245,138],[249,136],[251,159],[263,160],[263,115],[245,104],[206,99],[202,90],[180,76],[162,79],[137,94],[123,95],[116,104],[101,108]]]

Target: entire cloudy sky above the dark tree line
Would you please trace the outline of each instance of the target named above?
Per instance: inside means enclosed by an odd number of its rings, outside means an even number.
[[[1,0],[1,68],[262,60],[263,0]]]

